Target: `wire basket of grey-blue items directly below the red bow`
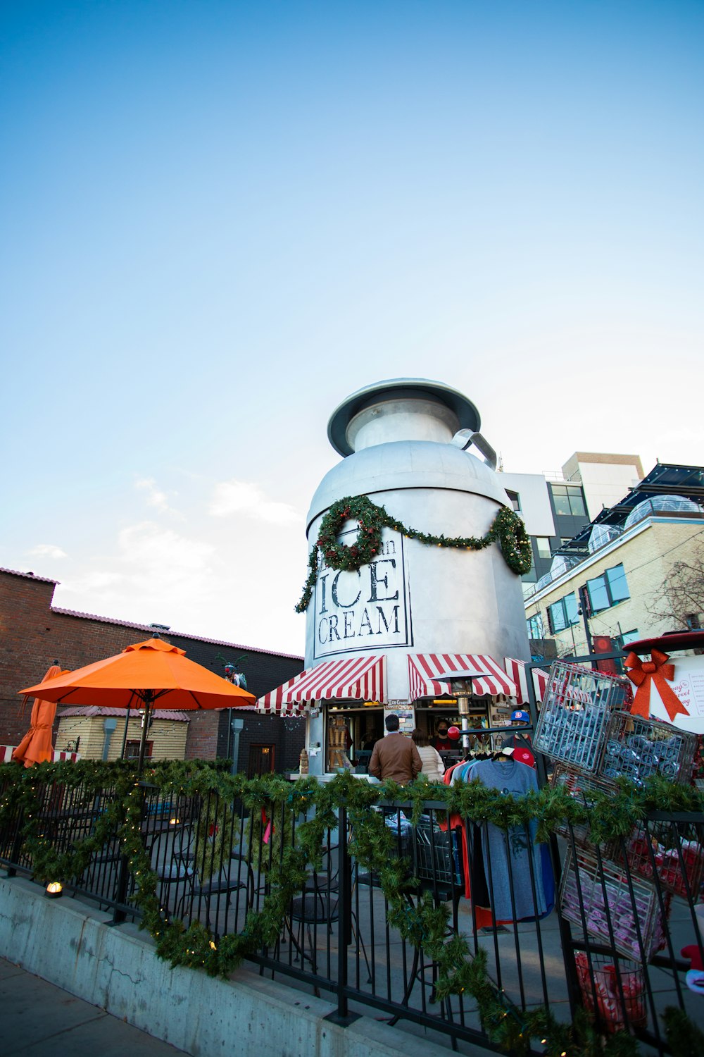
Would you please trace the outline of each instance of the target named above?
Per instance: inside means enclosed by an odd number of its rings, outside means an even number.
[[[616,711],[609,723],[598,774],[611,780],[630,778],[636,785],[653,775],[688,784],[696,750],[696,734]]]

